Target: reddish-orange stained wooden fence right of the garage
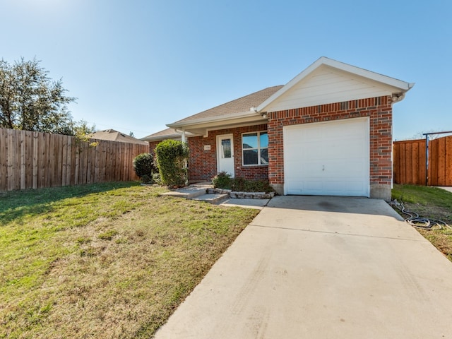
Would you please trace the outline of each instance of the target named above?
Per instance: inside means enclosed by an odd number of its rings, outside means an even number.
[[[393,143],[393,172],[396,184],[426,184],[425,139]],[[452,186],[452,136],[429,141],[429,186]]]

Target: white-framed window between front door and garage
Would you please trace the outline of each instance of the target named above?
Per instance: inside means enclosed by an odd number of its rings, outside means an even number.
[[[242,134],[243,165],[268,165],[268,133]]]

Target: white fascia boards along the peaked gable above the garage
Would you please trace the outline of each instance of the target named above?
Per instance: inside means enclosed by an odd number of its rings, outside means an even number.
[[[395,88],[400,89],[402,93],[408,92],[412,86],[414,86],[414,83],[407,83],[405,81],[398,80],[396,78],[391,78],[389,76],[383,76],[382,74],[375,73],[372,71],[367,71],[367,69],[360,69],[359,67],[352,66],[349,64],[344,64],[343,62],[336,61],[333,59],[329,59],[327,57],[321,57],[317,59],[314,64],[311,64],[307,67],[307,69],[304,69],[302,73],[299,73],[295,78],[293,78],[291,81],[289,81],[287,84],[283,86],[283,88],[280,88],[277,92],[273,93],[270,97],[268,97],[267,100],[261,103],[261,105],[258,105],[256,107],[257,112],[265,112],[265,109],[268,105],[270,105],[271,102],[275,101],[286,93],[290,88],[292,88],[294,85],[299,83],[299,81],[302,81],[304,78],[309,76],[310,73],[312,73],[315,69],[319,68],[322,65],[330,66],[335,69],[339,69],[341,71],[345,71],[348,73],[356,74],[357,76],[362,76],[363,78],[369,78],[373,81],[377,81],[379,83],[383,83],[386,85],[391,85]]]

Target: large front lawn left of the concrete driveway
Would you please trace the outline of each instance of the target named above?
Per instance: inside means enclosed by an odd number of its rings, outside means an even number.
[[[136,183],[0,194],[0,338],[150,338],[256,210]]]

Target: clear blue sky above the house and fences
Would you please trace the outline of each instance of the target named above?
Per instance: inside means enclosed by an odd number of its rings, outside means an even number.
[[[0,0],[0,57],[41,60],[74,120],[141,138],[319,57],[416,83],[393,137],[451,131],[452,1]]]

